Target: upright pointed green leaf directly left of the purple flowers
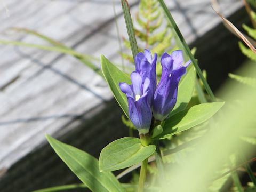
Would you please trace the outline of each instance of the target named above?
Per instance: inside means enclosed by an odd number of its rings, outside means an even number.
[[[101,55],[100,60],[103,76],[105,77],[106,82],[113,92],[118,104],[123,109],[125,115],[129,118],[127,98],[126,95],[120,90],[119,82],[131,84],[130,77],[123,71],[119,70],[103,55]]]

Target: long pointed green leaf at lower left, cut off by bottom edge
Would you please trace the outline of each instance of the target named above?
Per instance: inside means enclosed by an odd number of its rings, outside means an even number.
[[[124,191],[115,175],[111,172],[101,173],[99,171],[99,161],[85,151],[62,143],[50,135],[46,135],[47,140],[65,162],[69,169],[92,191]]]

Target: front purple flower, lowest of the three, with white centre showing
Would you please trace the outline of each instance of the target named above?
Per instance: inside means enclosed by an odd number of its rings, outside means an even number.
[[[152,119],[152,102],[149,99],[151,82],[148,77],[145,77],[142,83],[142,77],[136,71],[131,73],[131,81],[132,85],[119,83],[119,86],[127,96],[129,116],[132,123],[140,134],[146,134],[149,132]]]

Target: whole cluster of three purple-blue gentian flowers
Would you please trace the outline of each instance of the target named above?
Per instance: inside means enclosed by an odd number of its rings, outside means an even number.
[[[129,116],[140,134],[149,132],[152,117],[163,121],[177,101],[178,84],[190,60],[184,65],[181,50],[166,52],[162,55],[162,76],[156,84],[156,60],[149,50],[140,52],[135,57],[135,71],[131,73],[131,85],[119,83],[120,89],[127,96]]]

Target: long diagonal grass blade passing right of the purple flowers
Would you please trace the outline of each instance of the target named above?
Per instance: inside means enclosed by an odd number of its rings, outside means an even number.
[[[162,6],[162,8],[164,10],[164,13],[166,14],[167,19],[170,21],[172,27],[174,28],[175,33],[178,35],[178,37],[179,37],[179,39],[180,39],[180,41],[181,41],[181,43],[182,43],[182,45],[183,45],[183,47],[185,49],[186,54],[189,56],[189,58],[193,62],[193,65],[196,68],[197,74],[198,74],[199,78],[201,78],[201,80],[202,80],[202,82],[204,84],[205,90],[206,90],[206,92],[209,94],[209,96],[211,98],[211,101],[215,102],[216,101],[215,96],[214,96],[214,94],[213,94],[209,84],[207,83],[206,79],[204,78],[202,70],[199,68],[196,59],[194,58],[193,54],[191,53],[191,51],[189,49],[189,46],[186,43],[184,37],[182,36],[182,34],[180,32],[180,29],[178,28],[176,22],[174,21],[170,11],[168,10],[168,8],[167,8],[167,6],[166,6],[166,4],[164,3],[163,0],[158,0],[158,1],[159,1],[160,5]]]

